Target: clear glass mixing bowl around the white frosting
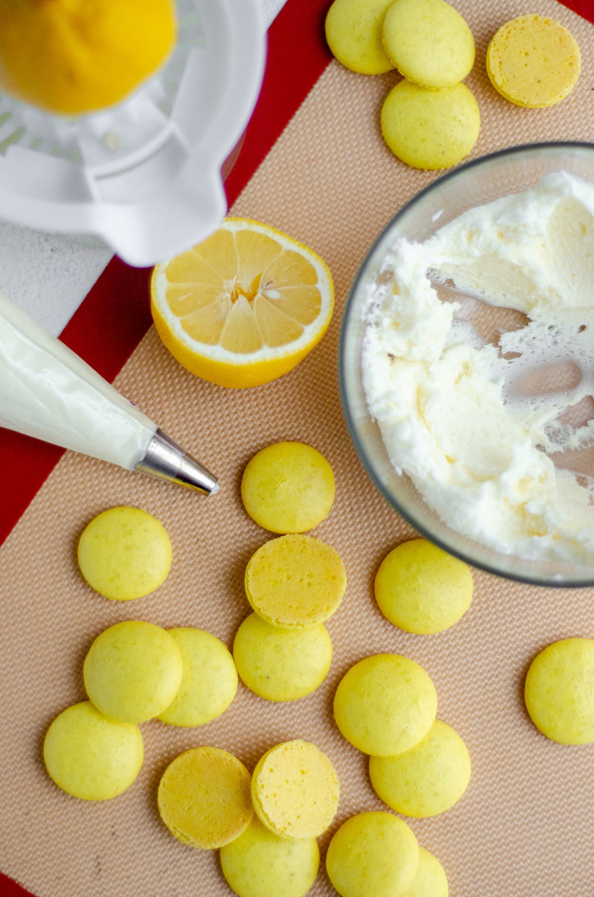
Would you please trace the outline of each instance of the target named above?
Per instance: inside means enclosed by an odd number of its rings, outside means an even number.
[[[587,564],[576,565],[556,560],[527,560],[514,554],[499,553],[463,536],[438,517],[424,502],[408,476],[398,474],[390,462],[380,429],[367,408],[361,370],[366,290],[378,277],[382,262],[395,239],[404,236],[423,242],[467,209],[533,187],[543,175],[559,170],[594,180],[594,144],[532,144],[494,152],[442,176],[407,203],[382,231],[355,278],[342,325],[339,376],[346,422],[363,465],[393,508],[422,536],[463,561],[509,579],[543,586],[592,586],[594,557]],[[594,283],[592,290],[594,293]],[[468,300],[455,291],[448,292],[450,295],[442,298],[466,302],[466,305],[468,301],[474,302],[474,317],[470,317],[479,333],[483,325],[485,333],[491,334],[491,337],[481,334],[486,342],[496,342],[499,332],[517,327],[516,312],[508,310],[510,318],[506,321],[506,312],[502,309],[502,317],[494,322],[492,307],[484,302]],[[594,295],[592,298],[594,301]],[[494,324],[496,336],[493,335]],[[581,472],[594,474],[594,470]]]

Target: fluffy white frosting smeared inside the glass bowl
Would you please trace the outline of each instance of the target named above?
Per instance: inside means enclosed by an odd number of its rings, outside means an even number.
[[[370,413],[424,501],[496,551],[592,562],[594,184],[558,172],[399,239],[366,321]]]

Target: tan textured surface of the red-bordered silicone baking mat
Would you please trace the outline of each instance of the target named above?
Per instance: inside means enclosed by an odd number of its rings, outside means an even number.
[[[483,126],[474,156],[510,144],[592,139],[594,28],[554,0],[530,12],[553,15],[581,44],[583,71],[554,109],[512,107],[490,87],[488,39],[526,12],[517,0],[457,0],[476,38],[468,85]],[[432,675],[440,718],[465,739],[473,762],[466,796],[447,814],[412,821],[441,859],[453,897],[591,897],[594,894],[594,747],[554,745],[530,724],[521,690],[531,658],[547,643],[594,633],[594,590],[531,588],[475,571],[475,599],[452,630],[408,635],[382,618],[372,582],[382,557],[413,536],[363,472],[343,421],[336,381],[341,311],[371,241],[435,175],[408,169],[389,153],[378,126],[381,101],[397,76],[360,77],[328,66],[232,208],[275,225],[316,249],[336,284],[334,321],[319,347],[291,374],[263,388],[227,391],[181,369],[153,330],[116,381],[127,396],[219,475],[205,500],[66,455],[0,549],[0,867],[39,897],[168,894],[223,897],[216,852],[182,846],[160,823],[156,787],[170,760],[196,745],[236,753],[249,768],[289,738],[308,738],[336,765],[341,801],[327,835],[374,796],[362,753],[331,716],[345,670],[379,651],[414,658]],[[336,474],[336,503],[315,535],[336,546],[348,575],[345,600],[328,621],[332,668],[301,701],[262,701],[240,686],[223,717],[198,729],[143,725],[145,762],[127,793],[103,804],[67,797],[48,779],[41,745],[48,724],[84,698],[82,663],[102,629],[125,619],[196,625],[231,646],[249,612],[242,579],[250,554],[269,537],[243,512],[240,474],[258,448],[295,439],[319,448]],[[162,519],[174,562],[153,596],[110,603],[87,588],[75,563],[82,528],[100,510],[133,504]],[[323,862],[312,897],[334,891]],[[283,895],[278,895],[283,897]]]

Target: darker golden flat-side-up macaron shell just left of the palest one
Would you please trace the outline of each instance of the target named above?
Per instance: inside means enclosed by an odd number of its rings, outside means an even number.
[[[159,813],[171,834],[205,850],[223,847],[254,815],[249,772],[232,753],[195,747],[180,753],[159,783]]]

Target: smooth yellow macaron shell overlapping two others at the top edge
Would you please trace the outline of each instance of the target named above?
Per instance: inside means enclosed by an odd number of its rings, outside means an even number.
[[[445,0],[395,0],[382,39],[398,72],[433,90],[463,81],[475,62],[472,31]]]

